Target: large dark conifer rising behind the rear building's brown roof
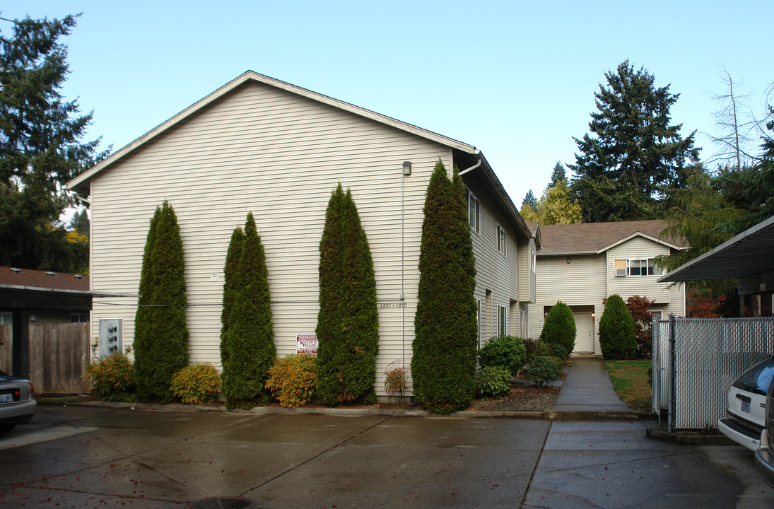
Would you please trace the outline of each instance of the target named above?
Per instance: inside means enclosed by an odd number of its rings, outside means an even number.
[[[670,125],[670,107],[680,96],[654,87],[652,74],[635,71],[628,60],[605,78],[607,86],[594,94],[591,135],[574,138],[579,153],[568,165],[584,221],[663,217],[663,194],[685,184],[687,162],[698,157],[694,133],[682,138],[681,126]]]

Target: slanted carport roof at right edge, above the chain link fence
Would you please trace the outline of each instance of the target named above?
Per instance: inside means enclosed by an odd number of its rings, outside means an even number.
[[[774,216],[707,251],[659,282],[745,278],[774,270]]]

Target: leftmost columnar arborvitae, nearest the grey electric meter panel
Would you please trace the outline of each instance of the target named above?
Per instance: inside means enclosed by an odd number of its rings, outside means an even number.
[[[188,365],[188,327],[183,240],[167,201],[150,220],[139,294],[132,343],[137,392],[143,400],[168,400],[172,377]]]

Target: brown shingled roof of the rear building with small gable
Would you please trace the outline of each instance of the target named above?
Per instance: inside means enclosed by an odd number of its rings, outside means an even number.
[[[673,249],[687,246],[683,241],[663,237],[663,220],[617,221],[612,223],[541,224],[543,249],[538,256],[597,255],[632,237],[645,237]]]

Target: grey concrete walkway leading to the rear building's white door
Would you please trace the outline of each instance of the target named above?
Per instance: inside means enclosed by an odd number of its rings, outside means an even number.
[[[572,364],[553,412],[622,412],[628,406],[613,390],[602,360],[594,356],[570,357]]]

